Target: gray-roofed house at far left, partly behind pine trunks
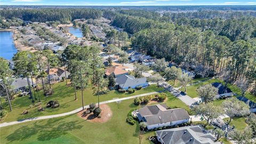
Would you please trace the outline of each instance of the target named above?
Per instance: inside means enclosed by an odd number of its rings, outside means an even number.
[[[35,82],[34,82],[34,85],[33,85],[30,78],[29,78],[29,83],[30,83],[31,86],[36,87]],[[18,91],[24,92],[24,91],[27,91],[28,90],[27,78],[20,77],[20,78],[14,79],[14,81],[11,84],[11,87],[12,87],[12,90],[14,92],[18,92]]]

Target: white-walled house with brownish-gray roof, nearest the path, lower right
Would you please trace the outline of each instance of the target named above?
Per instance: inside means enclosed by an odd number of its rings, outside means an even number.
[[[146,122],[148,130],[187,123],[190,119],[185,109],[167,109],[165,104],[145,106],[138,111],[139,121]]]

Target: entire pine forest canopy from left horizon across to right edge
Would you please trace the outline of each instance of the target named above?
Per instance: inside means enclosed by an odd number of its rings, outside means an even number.
[[[139,6],[143,7],[143,6]],[[177,11],[182,9],[177,6]],[[121,7],[106,9],[4,9],[5,19],[60,21],[74,19],[111,20],[111,25],[131,34],[131,46],[140,52],[176,63],[189,63],[213,73],[229,70],[231,79],[247,77],[255,81],[256,18],[255,6],[185,6],[187,11],[171,12],[135,10]],[[204,8],[202,8],[204,7]],[[210,9],[210,8],[211,9]],[[247,7],[247,8],[246,8]],[[249,10],[250,11],[231,11]],[[154,7],[157,9],[157,6]],[[165,7],[166,10],[174,7]],[[190,11],[188,11],[190,8]],[[227,8],[227,7],[226,7]],[[139,9],[139,8],[138,8]],[[153,7],[148,7],[153,10]],[[220,10],[221,9],[221,10]],[[158,10],[163,10],[163,7]],[[14,19],[15,21],[15,19]]]

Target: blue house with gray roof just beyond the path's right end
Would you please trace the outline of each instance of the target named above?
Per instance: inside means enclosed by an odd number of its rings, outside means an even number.
[[[149,86],[146,77],[135,78],[134,76],[131,76],[131,75],[122,75],[122,76],[116,77],[115,81],[116,81],[116,85],[115,85],[116,89],[128,90],[129,88],[135,89],[136,86],[140,86],[140,85],[142,87]]]

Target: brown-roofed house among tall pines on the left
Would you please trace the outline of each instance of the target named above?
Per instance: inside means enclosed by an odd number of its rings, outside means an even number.
[[[65,74],[66,71],[66,74]],[[48,74],[48,70],[45,70],[45,73]],[[50,69],[50,81],[51,83],[57,83],[60,82],[63,78],[68,78],[70,73],[65,70],[64,68],[52,68]],[[49,82],[49,76],[46,77],[47,81]]]

